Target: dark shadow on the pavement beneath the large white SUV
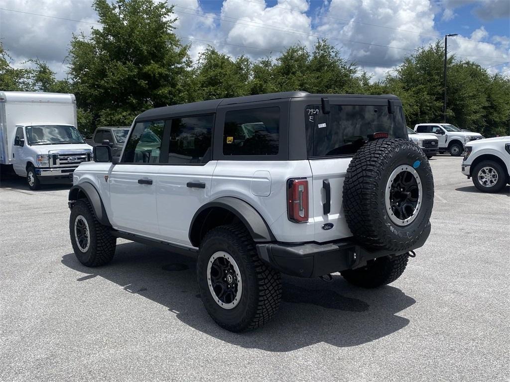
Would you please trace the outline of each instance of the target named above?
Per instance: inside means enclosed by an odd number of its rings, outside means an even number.
[[[284,276],[278,313],[263,328],[236,334],[221,329],[207,314],[199,298],[191,257],[129,242],[117,245],[112,263],[106,266],[87,268],[73,253],[64,255],[62,264],[87,274],[77,282],[105,278],[127,292],[168,307],[178,319],[202,333],[244,348],[275,352],[319,342],[355,346],[385,337],[410,322],[396,313],[416,303],[395,287],[356,288],[339,275],[331,282]]]

